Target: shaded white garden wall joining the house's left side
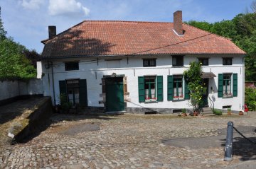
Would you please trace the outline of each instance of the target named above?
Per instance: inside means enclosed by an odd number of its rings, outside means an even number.
[[[30,95],[43,95],[43,83],[41,79],[0,81],[0,105]]]

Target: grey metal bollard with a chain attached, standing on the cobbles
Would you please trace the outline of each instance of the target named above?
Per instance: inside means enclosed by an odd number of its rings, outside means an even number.
[[[228,122],[224,161],[233,161],[233,122]]]

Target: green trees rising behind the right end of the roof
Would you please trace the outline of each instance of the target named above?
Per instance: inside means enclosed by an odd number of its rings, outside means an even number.
[[[256,1],[252,3],[256,4]],[[189,21],[188,25],[230,38],[247,54],[245,56],[245,79],[256,81],[256,13],[240,13],[230,21],[208,23]]]

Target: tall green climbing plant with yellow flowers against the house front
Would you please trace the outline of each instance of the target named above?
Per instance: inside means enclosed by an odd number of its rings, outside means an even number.
[[[199,62],[191,62],[190,68],[183,73],[185,80],[188,83],[188,90],[191,92],[191,105],[193,106],[193,110],[200,112],[201,106],[203,105],[203,78],[201,63]]]

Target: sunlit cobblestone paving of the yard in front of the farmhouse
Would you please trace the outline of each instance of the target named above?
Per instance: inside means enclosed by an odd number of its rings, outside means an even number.
[[[23,144],[0,149],[0,168],[225,168],[223,146],[166,146],[163,139],[216,136],[218,129],[255,126],[255,115],[187,117],[55,115],[44,132]],[[85,126],[86,129],[78,129]]]

